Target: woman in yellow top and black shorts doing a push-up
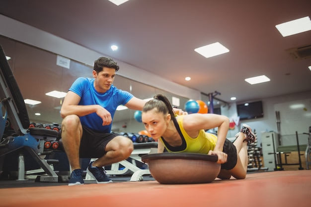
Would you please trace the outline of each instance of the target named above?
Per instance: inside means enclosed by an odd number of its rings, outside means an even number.
[[[244,179],[247,172],[247,143],[255,141],[255,135],[243,125],[235,135],[234,143],[226,138],[229,119],[216,114],[189,114],[176,116],[168,99],[157,94],[148,101],[142,111],[142,121],[152,138],[158,140],[158,153],[188,152],[217,155],[221,164],[220,179]],[[218,136],[205,129],[218,127]]]

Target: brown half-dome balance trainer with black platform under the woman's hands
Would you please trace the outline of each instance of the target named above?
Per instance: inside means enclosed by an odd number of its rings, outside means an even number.
[[[156,153],[142,156],[151,175],[161,184],[211,183],[221,164],[216,155],[195,153]]]

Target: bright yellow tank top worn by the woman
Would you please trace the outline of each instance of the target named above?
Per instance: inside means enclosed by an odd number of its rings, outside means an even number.
[[[188,152],[188,153],[207,154],[210,150],[214,150],[217,141],[216,135],[206,133],[204,130],[200,130],[198,137],[191,138],[183,128],[182,120],[183,116],[178,116],[177,123],[186,142],[186,147],[184,150],[181,151],[171,151],[165,145],[162,138],[159,138],[159,140],[164,144],[168,152]]]

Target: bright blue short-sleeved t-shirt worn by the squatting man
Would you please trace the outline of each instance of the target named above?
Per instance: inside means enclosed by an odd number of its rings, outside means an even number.
[[[111,85],[105,93],[99,93],[94,88],[94,78],[79,77],[69,89],[81,97],[78,105],[100,105],[110,112],[113,118],[119,105],[125,105],[134,96]],[[102,126],[102,119],[96,114],[88,114],[80,117],[82,126],[90,128],[96,132],[111,132],[111,125]]]

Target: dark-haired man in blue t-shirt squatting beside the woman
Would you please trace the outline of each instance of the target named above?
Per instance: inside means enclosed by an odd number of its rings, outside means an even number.
[[[111,133],[112,118],[119,105],[141,111],[146,101],[112,84],[118,70],[113,59],[97,59],[93,78],[76,79],[64,99],[62,141],[72,168],[70,186],[84,183],[79,158],[98,158],[86,171],[97,183],[109,183],[102,167],[127,159],[134,149],[131,139]]]

